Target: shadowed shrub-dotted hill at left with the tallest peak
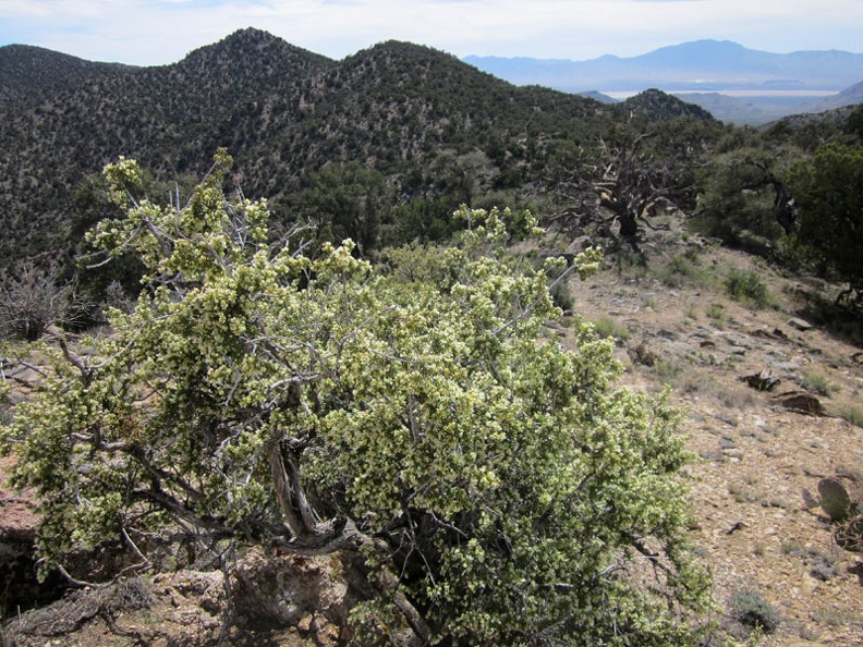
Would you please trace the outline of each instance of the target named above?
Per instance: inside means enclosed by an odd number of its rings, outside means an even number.
[[[11,58],[7,49],[0,57]],[[251,29],[167,66],[75,64],[64,68],[70,77],[57,80],[41,73],[56,60],[16,57],[3,76],[9,85],[0,88],[17,88],[0,120],[8,151],[0,160],[0,252],[7,258],[52,254],[44,235],[65,235],[72,192],[86,174],[120,155],[156,171],[202,173],[238,103],[294,93],[331,64]]]

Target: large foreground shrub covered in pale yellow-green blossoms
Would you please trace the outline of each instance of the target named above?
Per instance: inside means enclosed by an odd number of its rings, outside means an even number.
[[[124,194],[134,162],[108,169],[126,216],[88,237],[131,247],[147,290],[86,351],[45,346],[49,377],[0,435],[41,501],[44,563],[172,523],[354,553],[380,591],[355,620],[378,636],[685,644],[674,611],[707,578],[678,412],[616,387],[588,326],[575,353],[540,337],[560,261],[503,246],[530,213],[463,207],[457,245],[378,270],[351,241],[306,256],[302,228],[269,242],[266,205],[222,191],[230,161],[182,208]]]

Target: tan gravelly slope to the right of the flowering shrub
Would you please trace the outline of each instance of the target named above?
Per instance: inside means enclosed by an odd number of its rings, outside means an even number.
[[[763,644],[861,645],[863,560],[836,545],[817,505],[822,478],[863,471],[863,429],[848,422],[863,425],[861,330],[818,320],[829,285],[701,244],[659,242],[647,268],[574,285],[573,310],[616,335],[627,382],[671,387],[686,411],[693,539],[719,624],[744,638],[733,598],[756,591],[779,619]],[[761,305],[727,294],[731,268],[762,279]],[[779,382],[759,391],[746,376]]]

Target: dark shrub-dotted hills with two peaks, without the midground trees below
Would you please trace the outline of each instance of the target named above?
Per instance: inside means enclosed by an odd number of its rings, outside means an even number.
[[[486,190],[530,186],[560,143],[636,113],[712,120],[663,93],[606,105],[426,47],[389,41],[336,62],[256,29],[154,68],[8,46],[0,71],[0,266],[68,246],[82,181],[120,155],[165,180],[199,178],[226,146],[244,192],[290,218],[327,164],[379,171],[405,200],[463,200],[471,169]]]

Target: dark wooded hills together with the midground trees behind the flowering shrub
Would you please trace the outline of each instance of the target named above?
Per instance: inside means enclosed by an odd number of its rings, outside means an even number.
[[[633,248],[640,220],[677,210],[799,263],[781,241],[795,227],[785,175],[860,138],[853,108],[736,127],[655,89],[608,105],[406,42],[332,61],[256,29],[155,68],[0,48],[0,269],[24,260],[62,281],[84,232],[116,215],[99,173],[121,156],[175,203],[223,147],[231,182],[266,197],[278,227],[314,222],[318,242],[352,237],[365,256],[446,239],[467,204],[530,207],[571,237],[613,231]]]

